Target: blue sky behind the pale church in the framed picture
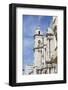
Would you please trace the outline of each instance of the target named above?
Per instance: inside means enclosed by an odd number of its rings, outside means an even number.
[[[52,16],[23,15],[23,35],[24,35],[24,65],[33,64],[34,61],[34,38],[35,28],[40,25],[41,31],[45,33],[50,26]]]

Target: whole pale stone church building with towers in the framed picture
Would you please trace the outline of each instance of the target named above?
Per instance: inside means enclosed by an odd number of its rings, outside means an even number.
[[[46,33],[41,32],[40,26],[34,34],[34,64],[28,74],[57,73],[57,17],[53,17]],[[29,66],[30,67],[30,66]]]

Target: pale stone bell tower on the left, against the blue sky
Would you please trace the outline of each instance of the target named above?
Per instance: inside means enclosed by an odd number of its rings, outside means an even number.
[[[40,27],[37,27],[34,34],[34,66],[35,73],[42,65],[42,49],[43,49],[43,35],[40,31]]]

